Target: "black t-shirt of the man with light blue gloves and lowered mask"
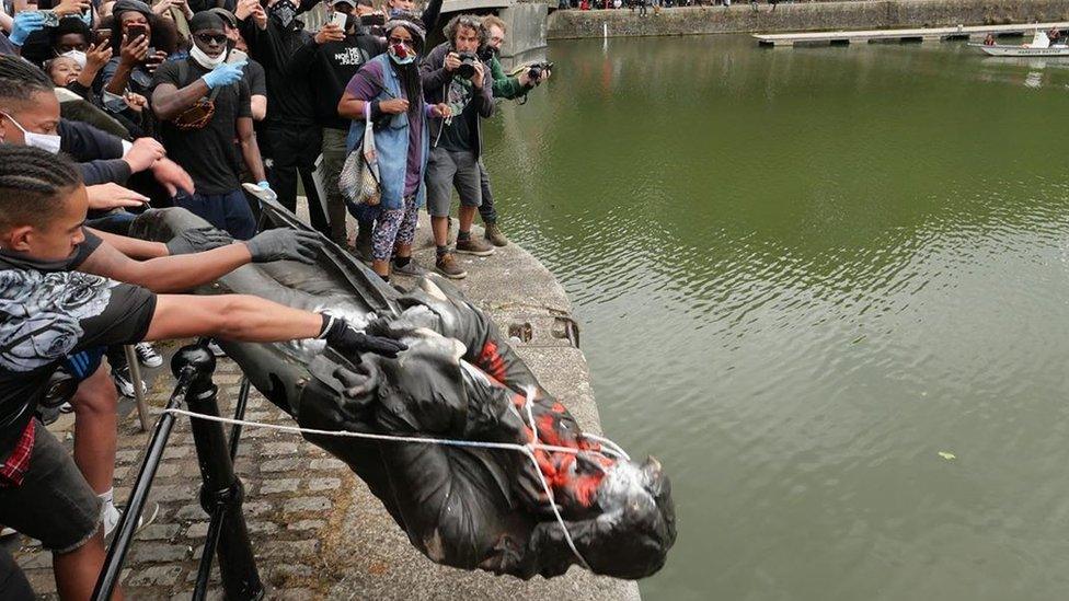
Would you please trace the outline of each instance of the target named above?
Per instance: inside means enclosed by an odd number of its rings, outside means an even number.
[[[185,81],[179,81],[182,63],[188,66]],[[156,70],[152,86],[170,83],[181,90],[207,72],[208,69],[192,59],[164,62]],[[252,118],[249,84],[242,79],[218,90],[215,114],[203,128],[181,130],[171,122],[160,124],[168,158],[189,172],[198,194],[227,194],[241,189],[241,165],[234,139],[238,137],[238,119]]]

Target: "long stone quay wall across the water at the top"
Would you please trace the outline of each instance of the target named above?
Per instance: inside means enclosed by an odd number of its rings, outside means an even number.
[[[771,12],[761,0],[724,7],[671,8],[647,18],[630,10],[555,11],[549,39],[610,36],[777,33],[823,30],[990,25],[1069,20],[1069,0],[878,0],[780,4]]]

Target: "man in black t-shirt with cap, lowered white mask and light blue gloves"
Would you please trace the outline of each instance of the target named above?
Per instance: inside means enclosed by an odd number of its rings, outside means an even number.
[[[196,194],[180,195],[174,204],[246,240],[255,233],[256,223],[241,189],[234,139],[257,185],[265,190],[271,186],[253,132],[249,85],[242,79],[244,65],[223,62],[225,26],[210,11],[193,15],[191,56],[157,71],[152,109],[162,122],[168,153],[189,172],[197,187]]]

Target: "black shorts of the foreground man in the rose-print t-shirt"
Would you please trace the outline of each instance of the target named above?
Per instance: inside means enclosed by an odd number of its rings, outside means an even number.
[[[53,553],[70,553],[100,530],[101,500],[56,437],[41,421],[35,426],[22,485],[0,487],[0,523]]]

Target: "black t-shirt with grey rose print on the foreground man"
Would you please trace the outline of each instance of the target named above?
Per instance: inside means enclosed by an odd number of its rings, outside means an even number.
[[[11,453],[65,357],[141,340],[156,312],[156,294],[145,288],[44,264],[27,268],[33,264],[0,255],[0,458]]]

